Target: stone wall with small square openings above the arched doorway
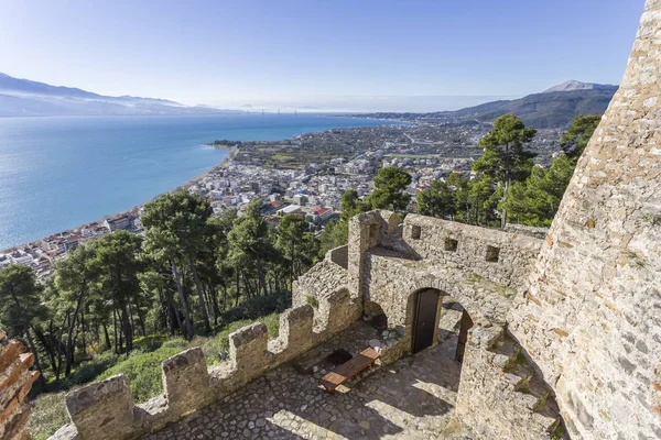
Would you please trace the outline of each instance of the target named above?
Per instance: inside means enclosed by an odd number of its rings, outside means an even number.
[[[505,322],[511,299],[542,241],[441,219],[376,211],[389,220],[364,256],[364,314],[410,331],[414,293],[435,288],[458,300],[476,320]],[[357,221],[360,221],[357,219]]]

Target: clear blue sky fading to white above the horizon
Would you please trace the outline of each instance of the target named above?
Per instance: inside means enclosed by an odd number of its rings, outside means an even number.
[[[643,6],[0,0],[0,72],[105,95],[228,107],[514,97],[566,79],[619,82]]]

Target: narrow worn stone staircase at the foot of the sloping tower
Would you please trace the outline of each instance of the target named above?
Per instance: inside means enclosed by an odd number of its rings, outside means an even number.
[[[503,332],[489,348],[492,364],[502,372],[512,402],[520,408],[516,417],[532,427],[529,438],[568,439],[552,389],[525,360],[521,346]],[[543,436],[543,437],[538,437]]]

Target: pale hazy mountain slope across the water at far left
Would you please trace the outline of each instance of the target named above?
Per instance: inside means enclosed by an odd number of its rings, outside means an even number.
[[[109,97],[71,87],[19,79],[0,73],[0,117],[138,116],[219,113],[165,99]]]

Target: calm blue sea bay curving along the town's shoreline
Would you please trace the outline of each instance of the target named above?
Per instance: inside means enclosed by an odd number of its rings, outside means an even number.
[[[0,118],[0,250],[151,200],[227,156],[215,140],[277,141],[389,121],[321,114]]]

